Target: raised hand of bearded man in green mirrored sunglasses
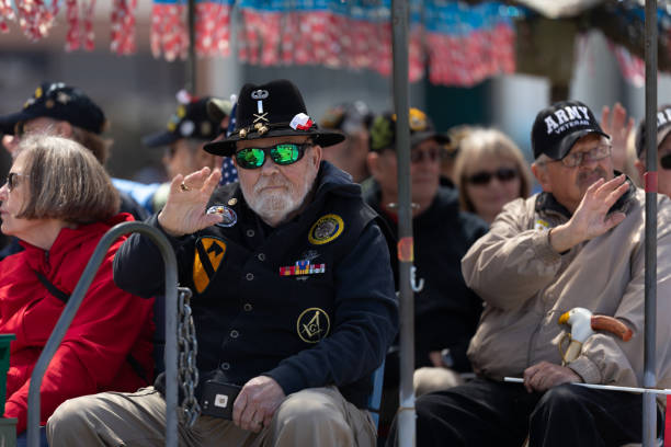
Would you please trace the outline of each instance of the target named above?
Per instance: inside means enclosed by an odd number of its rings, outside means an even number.
[[[219,183],[221,172],[203,168],[186,176],[175,175],[170,183],[168,202],[159,213],[158,220],[170,236],[191,234],[221,221],[218,214],[206,214],[209,196]]]

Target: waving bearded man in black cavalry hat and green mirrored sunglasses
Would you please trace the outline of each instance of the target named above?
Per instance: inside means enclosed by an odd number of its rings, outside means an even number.
[[[232,156],[239,183],[217,187],[220,173],[208,168],[177,175],[148,220],[172,242],[179,282],[195,295],[203,415],[191,428],[180,425],[182,438],[190,446],[374,446],[371,376],[398,317],[377,216],[348,174],[321,161],[321,145],[342,135],[317,127],[293,83],[246,84],[236,118],[230,137],[205,148]],[[162,294],[153,243],[137,234],[121,251],[116,284]],[[49,445],[161,443],[162,390],[159,378],[136,394],[69,401],[49,420]]]

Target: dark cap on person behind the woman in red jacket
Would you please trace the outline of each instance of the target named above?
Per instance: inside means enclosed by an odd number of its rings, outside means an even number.
[[[83,91],[62,82],[43,82],[21,112],[0,116],[0,131],[13,135],[18,124],[41,117],[65,121],[94,134],[107,127],[102,110]]]

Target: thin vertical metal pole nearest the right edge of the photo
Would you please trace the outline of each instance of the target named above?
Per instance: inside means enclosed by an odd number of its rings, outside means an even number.
[[[657,385],[657,0],[646,0],[646,276],[644,388]],[[642,396],[642,446],[653,447],[657,439],[655,394]]]

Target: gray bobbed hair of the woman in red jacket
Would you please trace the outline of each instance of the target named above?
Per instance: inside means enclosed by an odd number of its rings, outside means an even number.
[[[19,150],[30,187],[18,217],[90,224],[118,213],[120,197],[110,176],[77,141],[32,135],[21,140]]]

